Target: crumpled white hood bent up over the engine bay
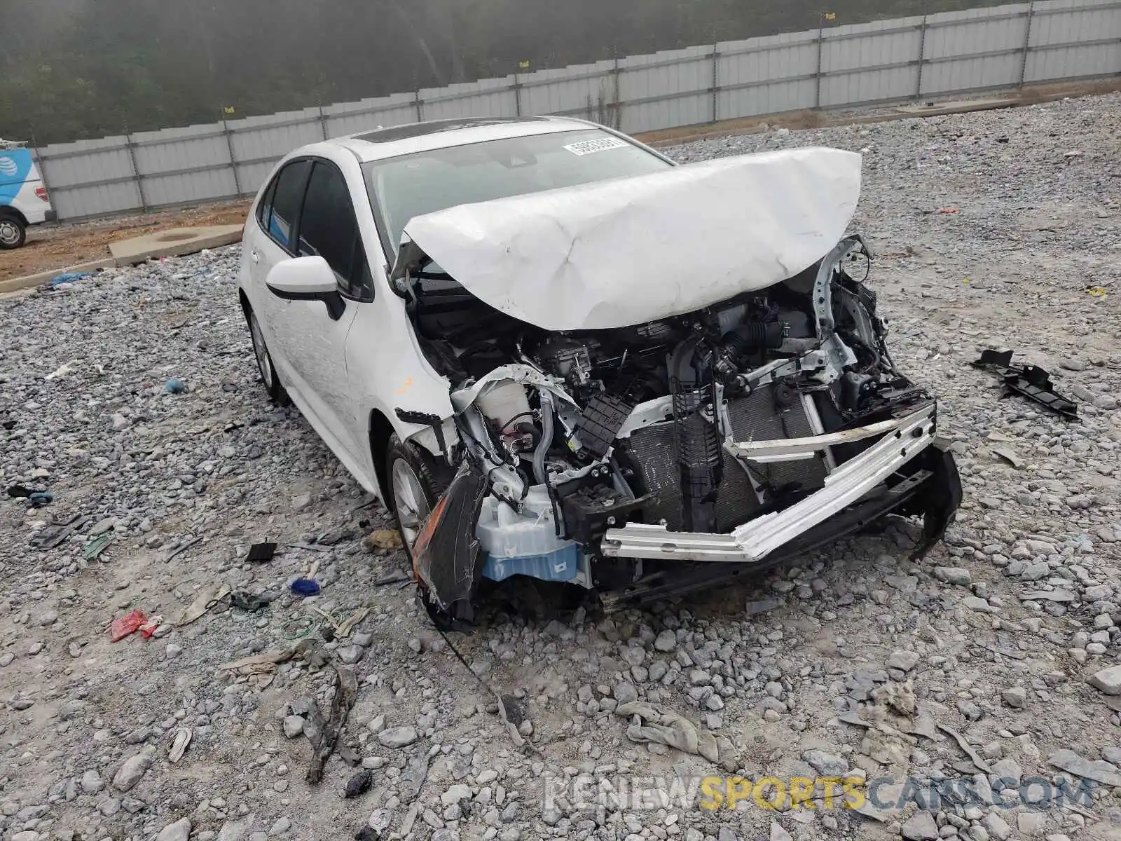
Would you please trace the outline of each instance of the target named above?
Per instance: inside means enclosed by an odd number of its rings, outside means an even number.
[[[772,286],[824,257],[861,157],[806,148],[462,204],[405,232],[467,292],[544,330],[623,327]]]

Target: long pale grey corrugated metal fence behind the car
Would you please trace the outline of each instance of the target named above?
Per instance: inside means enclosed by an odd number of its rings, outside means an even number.
[[[59,219],[257,192],[286,153],[417,120],[569,114],[623,131],[1121,75],[1121,0],[831,26],[36,150]]]

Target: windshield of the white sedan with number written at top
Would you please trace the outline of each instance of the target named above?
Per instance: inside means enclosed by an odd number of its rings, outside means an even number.
[[[396,255],[414,216],[673,164],[600,129],[511,137],[401,155],[363,165],[387,255]]]

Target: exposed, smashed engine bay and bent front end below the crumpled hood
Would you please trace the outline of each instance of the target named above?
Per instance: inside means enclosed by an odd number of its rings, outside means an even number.
[[[934,398],[888,352],[871,261],[846,237],[767,288],[563,332],[411,266],[407,311],[451,383],[458,440],[414,549],[432,602],[470,617],[481,577],[529,575],[610,607],[779,563],[889,512],[924,517],[926,551],[961,486]]]

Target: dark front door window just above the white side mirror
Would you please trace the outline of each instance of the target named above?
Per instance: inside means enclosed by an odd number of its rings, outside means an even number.
[[[335,272],[339,289],[353,298],[372,293],[365,249],[346,179],[334,164],[316,160],[299,219],[298,255],[316,255]]]

